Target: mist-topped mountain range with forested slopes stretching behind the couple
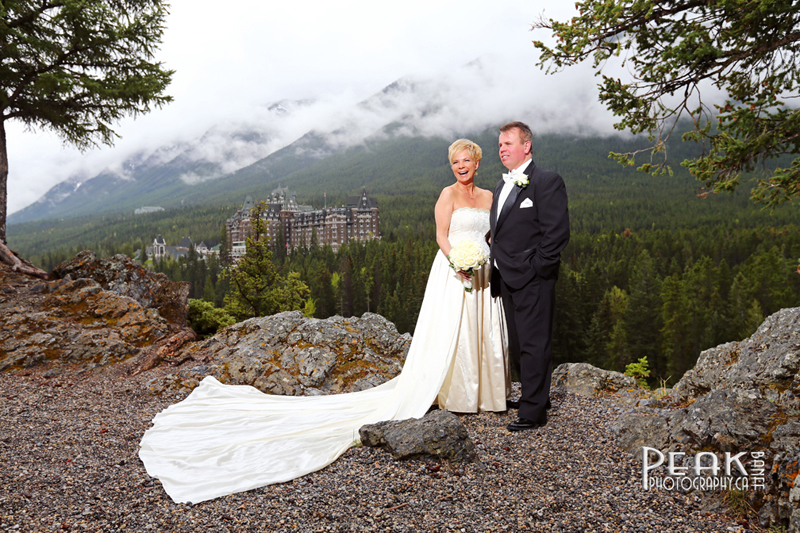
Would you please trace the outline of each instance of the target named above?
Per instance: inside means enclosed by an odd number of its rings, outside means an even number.
[[[497,126],[513,118],[525,118],[534,129],[536,163],[564,177],[576,231],[796,220],[789,207],[760,211],[748,200],[746,186],[733,196],[701,199],[701,184],[677,164],[698,153],[692,143],[670,144],[674,176],[637,172],[608,154],[643,148],[646,139],[599,132],[592,126],[597,123],[593,117],[575,118],[584,111],[580,105],[560,121],[553,119],[552,110],[533,104],[515,111],[514,106],[486,102],[487,109],[480,111],[475,100],[491,94],[491,76],[480,62],[466,65],[462,74],[461,84],[398,80],[351,107],[287,99],[266,107],[258,123],[219,124],[193,140],[135,153],[90,179],[67,179],[13,213],[8,218],[9,239],[26,247],[29,240],[38,239],[36,234],[58,230],[50,223],[46,228],[30,224],[64,219],[56,226],[76,226],[72,239],[78,239],[77,226],[87,217],[102,217],[107,224],[109,215],[127,219],[143,206],[168,211],[214,207],[214,217],[222,217],[215,224],[221,227],[246,195],[264,199],[279,186],[289,187],[301,203],[315,207],[340,204],[366,189],[379,199],[382,230],[417,231],[432,223],[439,191],[452,183],[449,144],[469,137],[484,148],[476,183],[491,189],[504,170],[495,148]],[[464,84],[464,78],[469,83]],[[479,90],[480,84],[485,86]],[[305,128],[308,124],[313,126]],[[155,231],[168,229],[159,226]],[[212,233],[202,238],[213,238],[219,230]],[[23,237],[25,244],[20,242]],[[71,240],[59,242],[66,245]]]

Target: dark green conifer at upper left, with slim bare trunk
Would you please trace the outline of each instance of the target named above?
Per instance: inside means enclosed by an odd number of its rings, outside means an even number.
[[[15,0],[0,6],[0,246],[6,243],[5,122],[54,130],[81,149],[111,145],[111,126],[172,100],[154,61],[162,0]]]

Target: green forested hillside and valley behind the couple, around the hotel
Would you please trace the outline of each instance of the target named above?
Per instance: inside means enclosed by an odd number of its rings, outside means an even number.
[[[493,187],[502,168],[496,135],[473,138],[483,146],[478,184]],[[766,315],[800,305],[800,229],[796,207],[754,206],[741,190],[702,197],[700,183],[680,167],[652,177],[608,159],[634,141],[540,136],[534,160],[557,170],[570,197],[572,239],[558,283],[556,363],[589,361],[624,370],[647,357],[652,380],[677,380],[699,352],[741,339]],[[378,198],[383,239],[330,248],[276,253],[284,272],[308,285],[315,316],[377,311],[401,331],[413,331],[428,269],[437,252],[433,205],[451,183],[448,140],[372,141],[290,172],[255,179],[250,194],[266,197],[278,185],[302,203],[321,207],[366,188]],[[682,160],[691,145],[671,147]],[[218,203],[134,216],[66,219],[9,227],[9,244],[45,269],[90,248],[99,255],[134,251],[161,234],[169,244],[190,236],[216,244],[241,191],[213,195]],[[238,196],[238,197],[237,197]],[[208,200],[210,201],[211,198]],[[198,202],[199,203],[199,202]],[[156,268],[193,284],[193,298],[222,306],[227,292],[219,263],[165,263]]]

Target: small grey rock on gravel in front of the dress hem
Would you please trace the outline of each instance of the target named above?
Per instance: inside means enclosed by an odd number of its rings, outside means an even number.
[[[433,456],[451,462],[478,461],[467,428],[456,415],[443,409],[422,418],[362,426],[358,434],[361,444],[384,448],[395,459]]]

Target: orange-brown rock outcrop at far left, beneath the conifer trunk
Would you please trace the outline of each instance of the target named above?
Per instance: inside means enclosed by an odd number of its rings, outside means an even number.
[[[74,268],[79,264],[86,268]],[[157,352],[176,335],[194,338],[180,326],[185,314],[177,314],[188,302],[185,284],[124,256],[98,261],[83,252],[62,265],[63,277],[51,281],[0,265],[0,370],[54,363],[91,368]],[[143,305],[137,294],[150,295],[140,299],[153,305]],[[168,298],[176,299],[170,320],[154,304]]]

